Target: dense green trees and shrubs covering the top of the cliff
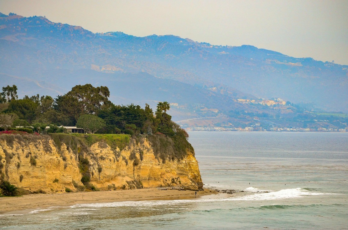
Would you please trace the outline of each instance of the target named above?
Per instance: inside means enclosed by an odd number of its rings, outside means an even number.
[[[167,114],[170,109],[168,102],[159,102],[154,114],[148,104],[145,104],[145,108],[134,104],[114,105],[109,101],[109,96],[108,87],[86,84],[74,86],[71,91],[55,99],[40,97],[39,94],[18,99],[17,87],[6,86],[1,93],[1,123],[6,125],[5,129],[34,130],[41,134],[65,132],[61,125],[76,125],[87,133],[99,133],[51,135],[58,146],[64,142],[75,151],[79,141],[77,137],[89,145],[104,140],[110,146],[123,148],[129,142],[129,136],[115,134],[128,134],[149,137],[156,149],[155,154],[163,160],[182,159],[187,149],[193,152],[187,141],[187,132]],[[88,175],[85,176],[87,179]]]

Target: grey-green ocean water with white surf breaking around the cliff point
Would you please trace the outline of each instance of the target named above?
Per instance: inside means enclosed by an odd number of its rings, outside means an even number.
[[[348,229],[348,133],[190,132],[207,188],[0,215],[0,229]]]

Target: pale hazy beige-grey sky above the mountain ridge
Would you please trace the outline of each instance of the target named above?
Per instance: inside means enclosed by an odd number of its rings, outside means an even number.
[[[171,34],[213,45],[254,45],[296,58],[348,64],[348,0],[0,0],[0,12],[46,16],[92,32]]]

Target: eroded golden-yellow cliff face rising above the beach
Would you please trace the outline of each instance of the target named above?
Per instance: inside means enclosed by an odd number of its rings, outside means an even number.
[[[73,150],[63,142],[57,146],[49,136],[4,135],[0,138],[0,173],[11,184],[32,192],[81,190],[82,158],[89,162],[90,185],[100,190],[203,187],[198,162],[191,151],[181,160],[158,159],[147,138],[131,138],[122,150],[103,140],[91,146],[77,144]]]

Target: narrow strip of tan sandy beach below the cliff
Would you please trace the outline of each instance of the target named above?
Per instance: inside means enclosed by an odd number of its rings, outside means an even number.
[[[158,188],[112,190],[100,192],[76,192],[61,194],[30,194],[22,197],[1,197],[0,214],[22,214],[30,210],[51,207],[70,206],[74,204],[107,203],[116,201],[140,201],[140,200],[177,200],[199,199],[204,195],[216,194],[214,190],[204,191],[179,191],[161,190]]]

